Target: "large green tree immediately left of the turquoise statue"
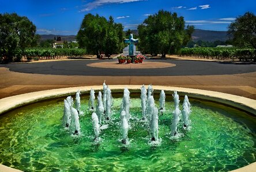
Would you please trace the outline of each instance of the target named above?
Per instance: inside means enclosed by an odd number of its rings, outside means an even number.
[[[77,41],[81,48],[96,54],[97,58],[100,58],[102,52],[109,57],[121,52],[123,48],[123,26],[115,24],[111,16],[107,21],[98,14],[86,14],[77,33]]]

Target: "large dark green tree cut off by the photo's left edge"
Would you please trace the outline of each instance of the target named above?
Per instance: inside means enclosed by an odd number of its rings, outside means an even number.
[[[0,61],[10,62],[21,58],[23,49],[36,46],[39,35],[36,26],[27,17],[16,13],[0,14]]]

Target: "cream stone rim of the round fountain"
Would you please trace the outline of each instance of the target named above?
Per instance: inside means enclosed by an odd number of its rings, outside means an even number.
[[[108,85],[112,92],[123,92],[124,88],[128,88],[129,90],[133,90],[134,92],[140,92],[140,88],[142,85]],[[145,85],[147,86],[147,85]],[[24,93],[21,95],[6,97],[0,99],[0,115],[13,110],[14,108],[21,107],[23,105],[35,103],[41,100],[53,99],[57,97],[74,95],[79,89],[81,93],[89,93],[91,88],[95,89],[95,91],[102,91],[102,85],[92,85],[92,86],[83,86],[83,87],[69,87],[69,88],[58,88],[58,89],[49,89],[45,91],[37,91]],[[168,87],[168,86],[159,86],[153,85],[154,90],[161,91],[164,89],[165,93],[171,94],[173,91],[178,91],[179,95],[187,95],[189,97],[194,97],[198,99],[216,101],[217,103],[222,103],[225,105],[231,105],[232,107],[239,108],[240,110],[244,110],[250,112],[256,116],[256,100],[249,99],[242,96],[231,95],[228,93],[221,93],[215,91],[206,91],[202,89],[193,89],[193,88],[182,88],[182,87]],[[256,162],[251,163],[245,167],[234,171],[248,171],[248,170],[256,169]],[[0,164],[0,171],[20,171],[16,169],[12,169],[10,167],[4,166]]]

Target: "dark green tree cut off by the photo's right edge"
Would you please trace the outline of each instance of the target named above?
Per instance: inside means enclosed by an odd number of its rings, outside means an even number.
[[[228,27],[228,36],[237,46],[252,46],[256,49],[256,16],[247,12],[236,18]]]

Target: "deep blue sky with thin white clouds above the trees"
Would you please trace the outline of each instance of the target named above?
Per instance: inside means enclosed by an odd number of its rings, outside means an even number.
[[[255,0],[0,0],[0,13],[27,16],[39,34],[77,34],[85,14],[99,14],[136,29],[159,10],[176,12],[197,29],[227,30],[246,11],[256,14]]]

